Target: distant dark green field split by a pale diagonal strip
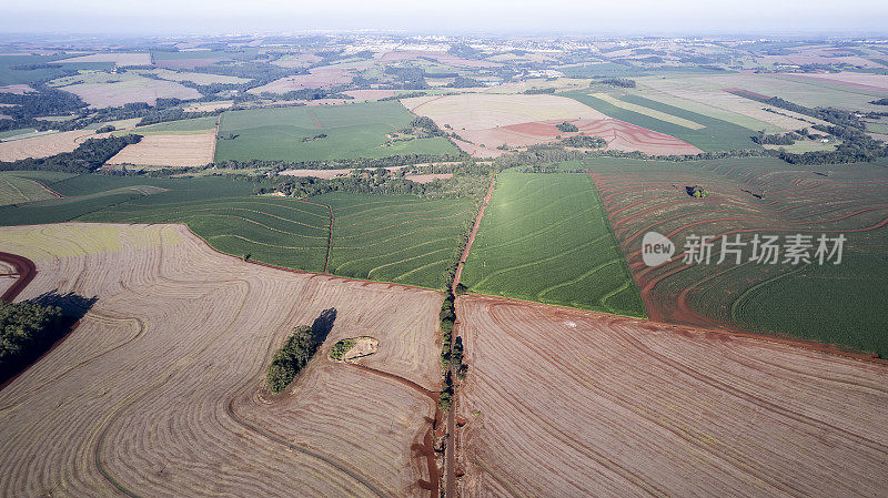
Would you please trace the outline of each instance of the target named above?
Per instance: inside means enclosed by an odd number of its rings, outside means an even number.
[[[727,121],[710,118],[708,115],[698,114],[686,109],[680,109],[650,99],[645,99],[643,96],[623,95],[620,100],[660,111],[666,114],[672,114],[677,118],[683,118],[702,124],[705,128],[700,130],[692,130],[678,124],[668,123],[666,121],[652,118],[649,115],[618,108],[612,103],[605,102],[602,99],[589,95],[587,91],[565,92],[561,93],[561,95],[578,100],[579,102],[583,102],[593,109],[604,112],[610,118],[626,121],[627,123],[644,126],[649,130],[666,133],[667,135],[684,140],[685,142],[695,145],[705,152],[736,149],[760,149],[759,145],[749,140],[749,138],[755,133],[753,130],[738,126]]]

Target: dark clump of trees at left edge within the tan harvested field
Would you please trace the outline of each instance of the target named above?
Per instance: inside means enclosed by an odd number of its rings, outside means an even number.
[[[62,309],[0,302],[0,384],[28,366],[62,333]]]

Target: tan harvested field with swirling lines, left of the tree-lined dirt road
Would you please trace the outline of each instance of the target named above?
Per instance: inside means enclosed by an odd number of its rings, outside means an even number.
[[[3,228],[0,251],[37,263],[21,298],[98,297],[0,392],[2,495],[434,492],[438,293],[252,265],[172,225]],[[312,323],[326,341],[269,396],[272,352]],[[326,360],[366,333],[361,365]]]

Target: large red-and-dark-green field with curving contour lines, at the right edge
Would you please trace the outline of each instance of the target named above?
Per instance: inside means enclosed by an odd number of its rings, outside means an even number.
[[[798,167],[771,159],[692,163],[594,160],[602,195],[652,319],[791,335],[888,355],[888,174],[876,164]],[[686,187],[709,191],[695,199]],[[676,246],[668,263],[646,266],[643,235]],[[755,234],[810,235],[809,263],[750,261]],[[842,261],[820,265],[820,235],[842,234]],[[685,263],[687,236],[712,237],[710,264]],[[740,236],[740,264],[724,264],[723,241]],[[726,238],[727,237],[727,238]],[[830,251],[833,243],[830,243]],[[833,260],[835,261],[835,260]]]

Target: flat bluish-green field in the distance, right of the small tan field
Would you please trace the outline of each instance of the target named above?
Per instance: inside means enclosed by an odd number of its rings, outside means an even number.
[[[408,126],[413,118],[396,101],[231,111],[222,115],[215,161],[297,162],[457,153],[441,136],[385,145],[386,133]],[[326,138],[312,140],[320,134]]]

